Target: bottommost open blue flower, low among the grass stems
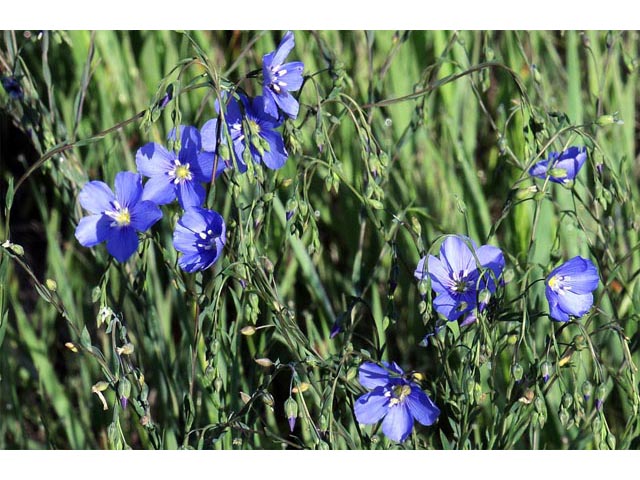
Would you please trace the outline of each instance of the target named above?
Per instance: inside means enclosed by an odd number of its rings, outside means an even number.
[[[404,442],[413,430],[413,421],[432,425],[440,409],[420,386],[404,377],[395,363],[360,365],[358,380],[371,390],[356,400],[354,412],[359,423],[368,425],[382,420],[382,432],[394,442]]]

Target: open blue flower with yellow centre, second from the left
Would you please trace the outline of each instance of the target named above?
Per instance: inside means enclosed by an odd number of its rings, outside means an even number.
[[[182,208],[199,207],[204,202],[202,182],[211,181],[213,155],[202,155],[200,132],[195,127],[180,126],[180,151],[167,150],[158,143],[147,143],[136,153],[136,166],[145,177],[144,199],[158,205],[178,197]],[[175,131],[169,134],[175,139]]]

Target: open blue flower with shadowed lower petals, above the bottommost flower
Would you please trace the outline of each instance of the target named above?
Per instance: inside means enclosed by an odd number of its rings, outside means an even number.
[[[474,309],[482,311],[486,307],[486,301],[478,301],[478,294],[484,290],[490,294],[496,291],[496,281],[504,265],[504,255],[499,248],[491,245],[478,248],[469,238],[450,236],[442,242],[440,258],[423,257],[414,276],[423,280],[429,274],[431,288],[437,294],[433,301],[436,311],[447,320],[468,314],[463,321],[466,325],[475,321]]]

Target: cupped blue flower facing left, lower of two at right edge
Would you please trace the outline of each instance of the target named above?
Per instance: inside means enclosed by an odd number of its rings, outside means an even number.
[[[553,320],[568,322],[569,315],[581,317],[593,305],[593,291],[598,288],[598,270],[591,260],[573,257],[547,277],[544,291]]]

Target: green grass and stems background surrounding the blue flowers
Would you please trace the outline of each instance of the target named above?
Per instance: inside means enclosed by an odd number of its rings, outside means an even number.
[[[289,160],[210,188],[213,270],[176,269],[177,206],[124,265],[77,243],[84,183],[202,126],[226,81],[259,94],[282,34],[3,32],[25,101],[0,90],[0,448],[637,448],[637,32],[295,32]],[[573,144],[575,185],[528,178]],[[413,270],[456,233],[502,248],[509,282],[422,347]],[[596,306],[558,324],[536,280],[578,254]],[[400,446],[357,425],[367,359],[420,372],[439,422]]]

